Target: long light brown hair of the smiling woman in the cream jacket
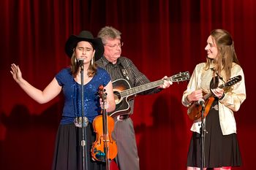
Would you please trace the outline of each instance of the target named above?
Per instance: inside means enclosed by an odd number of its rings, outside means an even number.
[[[231,68],[234,63],[240,65],[236,56],[234,42],[229,32],[223,29],[214,29],[211,31],[211,37],[214,44],[217,46],[218,54],[214,59],[207,58],[206,69],[210,67],[210,64],[214,63],[214,74],[218,72],[224,72],[226,80],[231,77]]]

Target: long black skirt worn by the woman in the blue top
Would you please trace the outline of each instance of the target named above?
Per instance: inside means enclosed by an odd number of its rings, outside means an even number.
[[[91,123],[86,127],[86,153],[82,155],[81,147],[82,128],[75,125],[59,125],[56,136],[55,152],[53,156],[53,170],[80,170],[82,169],[82,158],[85,158],[85,167],[90,170],[106,169],[105,163],[93,161],[91,158],[91,146],[95,142],[96,134],[93,131]],[[87,158],[87,161],[86,161]]]

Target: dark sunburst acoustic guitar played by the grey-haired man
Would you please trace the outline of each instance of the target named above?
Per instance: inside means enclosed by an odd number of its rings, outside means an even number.
[[[170,80],[171,82],[183,82],[189,79],[189,72],[181,72],[171,77],[167,77],[166,80]],[[159,85],[163,84],[164,80],[157,80],[154,82],[148,82],[145,85],[131,88],[131,85],[129,85],[129,82],[125,79],[118,79],[113,81],[113,93],[116,102],[116,109],[113,112],[108,112],[108,115],[113,118],[118,117],[118,115],[127,115],[131,109],[128,101],[135,98],[137,93],[141,93],[152,88],[157,88]]]

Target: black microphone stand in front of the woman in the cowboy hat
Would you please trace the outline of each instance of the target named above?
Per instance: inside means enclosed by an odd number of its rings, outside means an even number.
[[[87,148],[86,148],[86,126],[84,125],[84,107],[83,107],[83,63],[80,62],[80,77],[81,77],[81,113],[82,113],[82,140],[81,140],[81,147],[82,147],[82,169],[85,169],[85,160],[86,160],[86,170],[88,170],[88,163],[87,163]]]

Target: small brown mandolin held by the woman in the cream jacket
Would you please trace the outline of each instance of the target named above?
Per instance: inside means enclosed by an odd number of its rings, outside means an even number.
[[[242,80],[241,75],[238,75],[236,77],[230,78],[225,84],[219,85],[219,88],[228,88],[232,85],[235,85],[237,82],[240,82]],[[207,93],[203,96],[203,100],[206,101],[203,112],[203,118],[208,115],[209,110],[211,109],[211,104],[214,102],[214,94],[212,92]],[[194,101],[190,106],[189,109],[187,109],[187,115],[189,116],[189,119],[191,120],[197,120],[202,116],[203,108],[200,104],[198,104],[197,101]]]

